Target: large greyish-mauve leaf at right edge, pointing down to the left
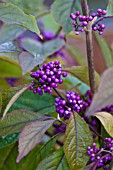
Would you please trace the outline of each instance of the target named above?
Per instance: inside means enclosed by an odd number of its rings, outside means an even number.
[[[86,112],[87,116],[94,115],[98,110],[113,104],[113,68],[107,69],[99,83],[98,91],[94,94],[92,103]]]

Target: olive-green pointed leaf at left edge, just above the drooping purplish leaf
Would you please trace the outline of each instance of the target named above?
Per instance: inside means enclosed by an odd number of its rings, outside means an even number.
[[[30,110],[14,110],[0,120],[0,135],[20,132],[27,124],[44,118],[47,117],[41,117]]]

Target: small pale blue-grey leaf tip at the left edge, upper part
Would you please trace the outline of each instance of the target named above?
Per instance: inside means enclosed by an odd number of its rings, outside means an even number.
[[[19,52],[20,49],[18,48],[17,44],[14,42],[7,42],[0,45],[0,53],[4,52]]]

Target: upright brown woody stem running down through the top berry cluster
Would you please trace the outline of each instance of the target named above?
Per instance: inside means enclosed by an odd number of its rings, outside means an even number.
[[[88,4],[86,0],[81,0],[83,15],[88,16]],[[88,60],[88,70],[89,70],[89,82],[92,91],[92,96],[95,93],[95,72],[94,72],[94,61],[93,61],[93,45],[92,45],[92,25],[91,22],[88,23],[86,33],[86,47],[87,47],[87,60]]]

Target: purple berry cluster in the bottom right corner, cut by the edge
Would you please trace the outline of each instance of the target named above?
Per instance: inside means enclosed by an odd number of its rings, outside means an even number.
[[[95,162],[97,168],[108,169],[106,166],[112,160],[113,152],[113,140],[111,138],[105,138],[105,145],[103,148],[97,148],[96,143],[92,144],[92,147],[88,147],[87,154],[90,156],[90,162]]]

